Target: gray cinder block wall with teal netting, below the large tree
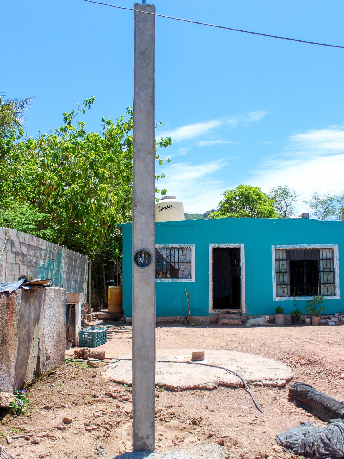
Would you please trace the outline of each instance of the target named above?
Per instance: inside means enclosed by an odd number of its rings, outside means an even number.
[[[3,248],[0,282],[15,281],[21,275],[43,276],[52,278],[53,286],[83,293],[87,299],[87,255],[8,228],[0,228],[0,256]]]

